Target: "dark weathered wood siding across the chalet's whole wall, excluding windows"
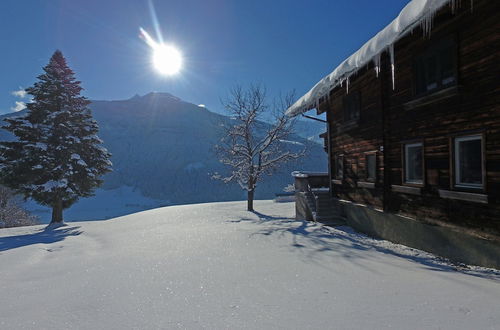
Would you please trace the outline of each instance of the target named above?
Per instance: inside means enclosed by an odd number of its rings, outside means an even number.
[[[359,121],[343,120],[346,86],[331,92],[323,104],[328,109],[330,155],[341,153],[345,160],[344,180],[332,184],[335,197],[425,222],[500,235],[499,6],[497,1],[475,0],[471,11],[465,1],[456,13],[445,6],[435,17],[430,37],[416,28],[399,40],[395,90],[386,53],[378,78],[371,65],[351,77],[349,92],[358,91],[361,97]],[[456,84],[417,96],[415,57],[450,38],[457,52]],[[483,135],[482,190],[458,189],[453,183],[453,139],[471,134]],[[423,142],[424,183],[413,193],[398,192],[394,186],[405,185],[402,145],[411,141]],[[365,181],[364,154],[375,150],[377,182],[375,188],[366,188],[359,184]],[[443,198],[440,190],[487,195],[488,203]]]

